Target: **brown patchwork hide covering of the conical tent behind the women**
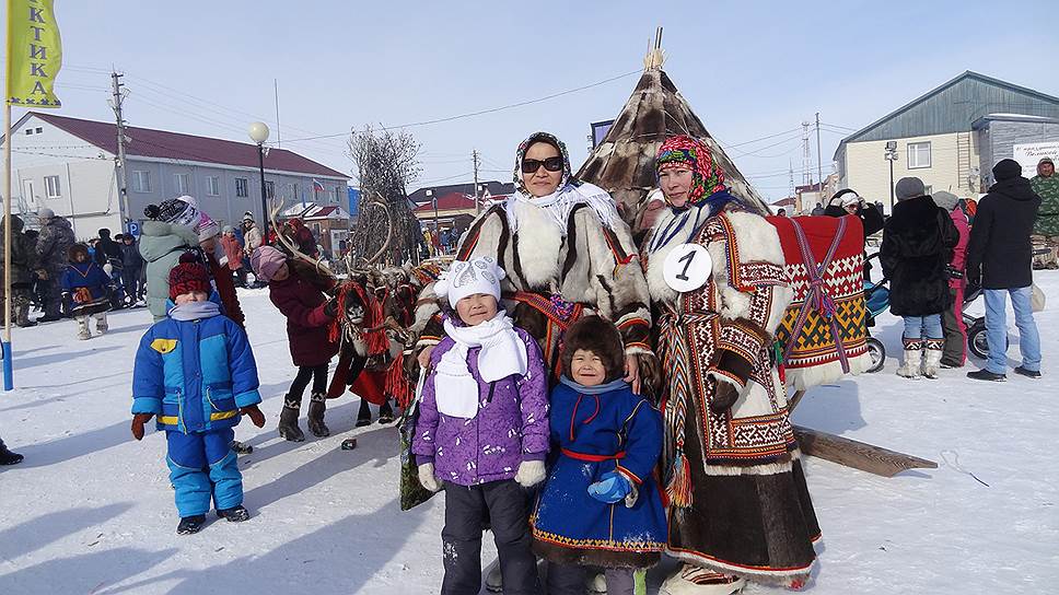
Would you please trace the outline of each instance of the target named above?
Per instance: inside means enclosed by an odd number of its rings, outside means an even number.
[[[665,71],[650,63],[610,131],[589,155],[577,177],[610,192],[625,207],[626,218],[631,219],[648,192],[657,187],[654,156],[659,147],[675,135],[688,135],[705,142],[724,172],[724,184],[731,192],[758,213],[770,214],[757,190],[691,112]]]

